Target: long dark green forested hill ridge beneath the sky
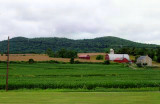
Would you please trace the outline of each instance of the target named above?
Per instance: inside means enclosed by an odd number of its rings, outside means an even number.
[[[72,40],[67,38],[24,38],[16,37],[10,40],[10,53],[45,53],[51,48],[58,51],[62,48],[75,50],[77,52],[104,52],[107,48],[138,47],[151,48],[159,47],[153,44],[142,44],[117,37],[101,37],[95,39]],[[7,40],[0,42],[0,52],[7,50]]]

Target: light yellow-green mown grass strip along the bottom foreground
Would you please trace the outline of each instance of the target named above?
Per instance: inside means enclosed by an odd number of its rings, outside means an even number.
[[[159,92],[0,92],[0,104],[159,104]]]

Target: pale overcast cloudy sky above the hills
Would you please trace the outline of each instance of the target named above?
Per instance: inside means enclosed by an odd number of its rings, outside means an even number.
[[[160,0],[0,0],[0,41],[8,36],[160,44]]]

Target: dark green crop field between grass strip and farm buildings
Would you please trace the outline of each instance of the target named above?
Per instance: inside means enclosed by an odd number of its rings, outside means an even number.
[[[6,64],[0,63],[0,89]],[[158,68],[132,69],[123,64],[10,64],[9,89],[159,88]]]

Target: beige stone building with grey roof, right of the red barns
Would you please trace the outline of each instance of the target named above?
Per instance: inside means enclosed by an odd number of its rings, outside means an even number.
[[[147,55],[147,56],[140,56],[137,59],[137,64],[141,64],[142,66],[147,64],[147,66],[152,66],[152,59]]]

